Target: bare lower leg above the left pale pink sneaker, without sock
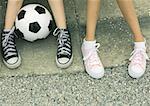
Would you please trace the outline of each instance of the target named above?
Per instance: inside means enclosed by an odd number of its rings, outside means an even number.
[[[87,0],[87,27],[85,39],[88,41],[95,40],[95,30],[99,9],[100,0]]]

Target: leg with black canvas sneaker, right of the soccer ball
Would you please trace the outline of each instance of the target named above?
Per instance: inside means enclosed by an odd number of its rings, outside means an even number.
[[[56,26],[53,35],[57,36],[58,48],[56,64],[60,68],[67,68],[73,60],[71,36],[66,25],[66,16],[64,11],[63,0],[48,0],[52,9]]]

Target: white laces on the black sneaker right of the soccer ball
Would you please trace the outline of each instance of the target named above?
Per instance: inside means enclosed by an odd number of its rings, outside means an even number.
[[[65,43],[66,41],[69,40],[68,31],[65,31],[65,30],[63,30],[63,29],[56,28],[56,29],[54,30],[54,32],[53,32],[53,35],[54,35],[54,36],[58,36],[57,41],[58,41],[58,43],[59,43],[59,47],[61,47],[61,48],[59,48],[59,50],[61,51],[61,52],[59,52],[59,54],[64,54],[64,53],[65,53],[65,54],[69,54],[69,55],[70,55],[70,53],[68,52],[68,51],[70,51],[70,49],[64,47],[64,45],[67,45],[67,47],[68,47],[68,44]],[[68,42],[68,43],[70,44],[70,42]],[[69,46],[69,47],[70,47],[70,46]],[[67,51],[66,51],[66,50],[67,50]],[[59,55],[59,54],[58,54],[58,55]]]

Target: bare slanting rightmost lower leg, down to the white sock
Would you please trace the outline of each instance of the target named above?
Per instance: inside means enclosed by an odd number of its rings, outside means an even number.
[[[136,12],[133,6],[133,1],[132,0],[117,0],[117,3],[134,34],[134,40],[136,42],[143,42],[144,37],[142,35],[141,29],[139,26],[139,22],[138,22]]]

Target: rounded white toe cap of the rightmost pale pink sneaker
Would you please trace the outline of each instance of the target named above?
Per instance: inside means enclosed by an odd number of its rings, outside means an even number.
[[[129,67],[128,72],[132,78],[140,78],[141,76],[143,76],[145,70],[139,66],[132,66]]]

